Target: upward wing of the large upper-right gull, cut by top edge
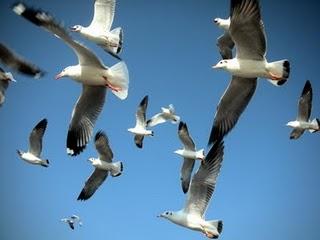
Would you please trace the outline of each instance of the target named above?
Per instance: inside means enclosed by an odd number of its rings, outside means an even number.
[[[230,35],[236,45],[237,58],[262,60],[266,38],[258,0],[231,0]]]

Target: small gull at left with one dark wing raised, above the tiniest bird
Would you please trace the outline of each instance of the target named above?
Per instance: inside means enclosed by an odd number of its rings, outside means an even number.
[[[40,157],[42,151],[42,138],[46,131],[47,124],[48,121],[44,118],[33,128],[29,136],[28,152],[17,150],[17,153],[22,160],[31,164],[49,167],[49,160],[44,160]]]

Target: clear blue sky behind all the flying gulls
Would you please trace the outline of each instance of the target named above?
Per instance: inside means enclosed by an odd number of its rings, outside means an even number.
[[[87,25],[93,1],[27,1],[52,13],[65,26]],[[182,160],[177,125],[155,127],[155,136],[136,148],[127,128],[135,124],[140,100],[149,95],[147,115],[172,103],[205,147],[216,105],[230,75],[211,68],[220,56],[215,46],[222,33],[212,22],[227,17],[226,0],[119,0],[113,27],[124,29],[122,57],[130,73],[125,101],[111,92],[96,127],[109,136],[115,160],[124,172],[111,178],[86,202],[76,201],[93,167],[93,142],[78,157],[66,154],[71,111],[81,86],[55,81],[64,67],[77,63],[72,50],[48,32],[18,17],[0,2],[1,42],[36,63],[47,75],[33,80],[14,74],[0,109],[0,239],[201,239],[205,238],[156,216],[179,210],[185,201],[179,181]],[[320,117],[318,3],[262,0],[270,61],[287,58],[291,76],[283,87],[259,81],[255,96],[225,139],[225,156],[207,219],[222,219],[220,239],[320,239],[320,135],[289,139],[285,126],[297,113],[306,79],[312,83],[312,117]],[[306,24],[307,23],[307,24]],[[107,66],[116,61],[85,43]],[[45,169],[21,161],[31,129],[48,119],[43,157]],[[318,149],[317,149],[318,148]],[[208,151],[208,150],[207,150]],[[196,167],[197,168],[197,167]],[[196,169],[195,168],[195,169]],[[78,214],[83,227],[71,231],[62,217]]]

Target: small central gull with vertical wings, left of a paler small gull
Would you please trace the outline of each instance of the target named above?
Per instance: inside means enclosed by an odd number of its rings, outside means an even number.
[[[145,96],[139,104],[136,112],[136,126],[129,128],[128,131],[133,133],[134,142],[138,148],[142,148],[145,136],[153,136],[153,131],[147,130],[146,111],[148,107],[148,96]]]

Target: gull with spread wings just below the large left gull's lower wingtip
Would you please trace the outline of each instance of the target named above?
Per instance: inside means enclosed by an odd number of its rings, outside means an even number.
[[[106,134],[99,131],[95,136],[95,145],[99,153],[98,158],[89,158],[88,161],[95,167],[95,170],[86,181],[77,200],[89,199],[95,191],[100,187],[108,176],[108,172],[112,177],[118,177],[123,170],[122,162],[112,162],[113,153],[109,146],[109,140]]]

